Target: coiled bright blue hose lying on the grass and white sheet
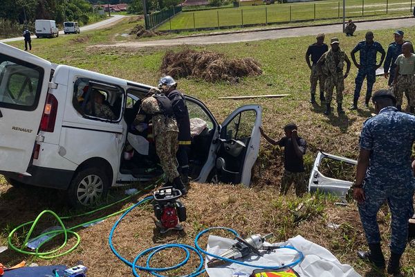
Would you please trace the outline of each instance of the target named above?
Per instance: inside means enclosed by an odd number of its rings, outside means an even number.
[[[129,267],[131,267],[133,269],[133,275],[136,276],[136,277],[140,277],[138,275],[137,269],[142,270],[142,271],[148,271],[149,273],[151,273],[154,276],[166,277],[166,276],[158,274],[158,272],[160,272],[160,271],[169,271],[169,270],[178,269],[179,267],[182,267],[183,265],[185,265],[189,261],[190,251],[196,253],[196,255],[199,256],[199,260],[200,260],[199,266],[191,274],[187,274],[187,275],[181,276],[181,277],[196,277],[196,276],[199,276],[200,274],[203,274],[205,272],[205,269],[202,269],[203,264],[204,264],[202,253],[204,253],[206,256],[211,256],[211,257],[214,257],[214,258],[225,260],[226,262],[234,262],[234,263],[237,263],[239,265],[244,265],[244,266],[247,266],[247,267],[255,267],[255,268],[260,268],[260,269],[280,269],[282,267],[293,267],[294,265],[297,265],[300,262],[302,262],[302,260],[304,259],[303,253],[298,251],[294,247],[281,247],[281,248],[293,249],[293,250],[297,251],[297,253],[299,253],[299,258],[297,260],[295,260],[294,262],[291,262],[287,265],[274,266],[274,267],[264,266],[264,265],[249,265],[245,262],[240,262],[239,260],[232,260],[232,259],[228,259],[228,258],[223,258],[221,256],[216,256],[212,253],[208,253],[207,251],[204,251],[199,246],[199,243],[198,243],[199,239],[201,238],[201,236],[204,233],[206,233],[208,231],[211,231],[213,229],[223,229],[223,230],[229,231],[230,233],[234,234],[235,236],[239,236],[239,234],[237,233],[237,231],[234,231],[233,229],[229,229],[229,228],[225,228],[225,227],[212,227],[212,228],[209,228],[209,229],[205,229],[205,230],[201,231],[198,235],[196,235],[196,238],[194,239],[195,247],[191,247],[190,245],[187,245],[187,244],[161,244],[161,245],[158,245],[156,247],[151,247],[149,249],[146,249],[145,251],[142,251],[141,253],[139,253],[136,256],[136,258],[133,260],[133,262],[129,262],[129,260],[123,258],[120,255],[120,253],[118,253],[118,251],[116,251],[115,247],[113,247],[113,242],[112,242],[113,233],[114,233],[114,231],[116,231],[116,228],[117,228],[118,224],[120,224],[121,220],[129,212],[131,212],[133,210],[133,208],[136,208],[137,206],[140,206],[141,204],[144,204],[145,202],[148,202],[151,199],[153,199],[152,196],[145,197],[144,199],[140,200],[137,204],[131,206],[131,208],[129,208],[127,211],[125,211],[125,213],[123,213],[120,216],[120,218],[113,225],[113,227],[111,229],[111,232],[109,233],[109,247],[111,248],[111,251],[113,251],[113,253],[117,256],[117,258],[122,260],[122,262],[124,262],[126,265],[128,265]],[[172,267],[160,267],[160,268],[150,267],[151,258],[156,253],[158,253],[160,251],[163,251],[164,249],[169,249],[169,248],[178,248],[178,249],[181,249],[181,250],[185,251],[186,257],[181,262],[179,262],[177,265],[174,265]],[[147,255],[148,253],[149,253],[149,256],[148,256],[147,261],[146,261],[146,267],[140,267],[139,265],[137,265],[138,260],[140,258],[142,258],[142,256]]]

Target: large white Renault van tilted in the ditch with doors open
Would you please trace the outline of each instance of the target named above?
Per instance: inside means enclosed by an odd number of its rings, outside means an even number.
[[[13,186],[67,190],[75,206],[92,205],[111,186],[160,175],[151,142],[147,153],[124,157],[127,136],[136,136],[131,123],[149,89],[51,64],[0,43],[0,174]],[[112,118],[85,109],[93,90],[105,95]],[[205,123],[192,139],[190,177],[249,186],[259,152],[261,107],[239,107],[220,125],[200,100],[186,96],[186,101],[191,120]]]

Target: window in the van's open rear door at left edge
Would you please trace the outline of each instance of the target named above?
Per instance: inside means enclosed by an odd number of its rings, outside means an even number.
[[[43,78],[41,67],[0,54],[0,107],[35,110]]]

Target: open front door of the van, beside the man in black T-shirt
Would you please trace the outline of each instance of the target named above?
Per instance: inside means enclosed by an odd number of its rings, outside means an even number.
[[[262,108],[245,105],[221,125],[216,171],[223,183],[250,185],[251,170],[258,157]]]

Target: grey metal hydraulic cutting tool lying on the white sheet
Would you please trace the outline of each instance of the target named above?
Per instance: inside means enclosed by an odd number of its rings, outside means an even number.
[[[264,256],[263,253],[259,252],[259,250],[266,250],[271,251],[273,249],[279,249],[279,247],[263,247],[263,244],[266,239],[273,237],[272,233],[268,235],[261,236],[257,235],[250,235],[248,238],[243,239],[240,237],[235,237],[238,241],[230,247],[230,249],[226,250],[225,252],[221,253],[221,257],[228,258],[235,260],[237,258],[243,258],[251,253],[255,253],[258,256]],[[220,265],[226,265],[228,262],[225,260],[220,260],[218,258],[213,258],[208,262],[208,267],[218,267]]]

